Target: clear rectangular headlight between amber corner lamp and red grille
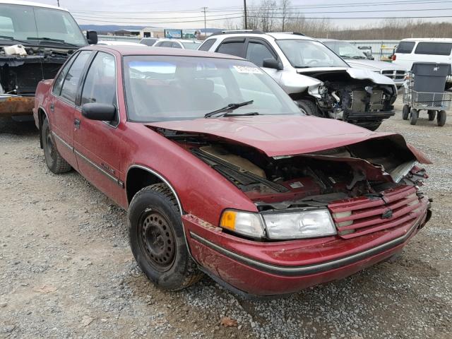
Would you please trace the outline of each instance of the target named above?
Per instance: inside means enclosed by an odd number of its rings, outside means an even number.
[[[304,210],[262,215],[270,239],[301,239],[336,234],[328,210]]]

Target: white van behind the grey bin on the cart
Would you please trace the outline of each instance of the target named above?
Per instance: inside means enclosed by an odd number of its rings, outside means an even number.
[[[452,39],[425,37],[401,40],[393,55],[393,64],[410,71],[416,61],[452,64]],[[449,76],[446,88],[451,87],[452,78]]]

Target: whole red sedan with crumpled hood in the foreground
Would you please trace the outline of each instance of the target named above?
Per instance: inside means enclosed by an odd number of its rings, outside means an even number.
[[[156,285],[207,273],[278,295],[400,253],[431,215],[429,161],[402,136],[309,117],[240,58],[85,47],[34,109],[47,166],[76,169],[129,210]]]

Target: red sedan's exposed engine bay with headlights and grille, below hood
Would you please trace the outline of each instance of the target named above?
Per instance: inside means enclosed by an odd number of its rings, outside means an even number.
[[[202,133],[158,131],[253,201],[258,213],[225,210],[220,220],[225,232],[246,238],[268,242],[337,234],[349,239],[408,225],[429,206],[419,190],[427,174],[416,165],[428,160],[393,136],[268,156],[249,145]],[[237,225],[237,218],[247,226]]]

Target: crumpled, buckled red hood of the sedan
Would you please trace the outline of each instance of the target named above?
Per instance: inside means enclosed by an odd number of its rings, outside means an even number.
[[[343,121],[297,115],[219,117],[146,124],[151,128],[201,133],[252,146],[269,157],[299,155],[328,150],[374,138],[391,138],[403,145],[419,162],[429,160],[396,133],[376,133]]]

